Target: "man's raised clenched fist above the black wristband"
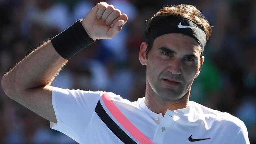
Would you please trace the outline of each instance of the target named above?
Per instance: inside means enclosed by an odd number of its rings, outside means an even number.
[[[82,20],[82,25],[94,40],[111,39],[121,31],[127,20],[127,15],[121,14],[119,9],[106,2],[100,2],[89,11]]]

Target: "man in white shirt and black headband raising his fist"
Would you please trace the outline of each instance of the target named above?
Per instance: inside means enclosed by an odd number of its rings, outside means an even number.
[[[147,66],[146,93],[137,102],[111,92],[50,86],[67,59],[96,39],[113,38],[127,19],[98,3],[5,74],[4,92],[81,144],[249,144],[241,120],[189,101],[211,34],[194,6],[165,7],[150,19],[139,51]]]

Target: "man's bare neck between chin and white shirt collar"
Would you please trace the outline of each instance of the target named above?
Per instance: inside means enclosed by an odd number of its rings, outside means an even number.
[[[145,104],[154,113],[162,113],[164,116],[167,109],[174,111],[176,109],[188,107],[189,93],[190,88],[182,98],[178,100],[166,100],[160,96],[157,96],[156,94],[150,94],[150,92],[148,92],[146,89]]]

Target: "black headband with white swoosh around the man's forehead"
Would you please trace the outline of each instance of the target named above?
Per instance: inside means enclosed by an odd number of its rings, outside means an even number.
[[[189,35],[199,42],[202,47],[202,52],[204,51],[204,46],[206,44],[206,34],[204,30],[201,26],[187,18],[177,16],[164,18],[151,28],[147,38],[148,42],[154,41],[154,39],[160,35],[167,33],[182,33]]]

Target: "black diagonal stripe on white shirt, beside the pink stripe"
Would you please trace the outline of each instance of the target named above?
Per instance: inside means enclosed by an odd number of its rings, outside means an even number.
[[[103,109],[100,101],[98,101],[95,112],[100,119],[106,124],[106,126],[120,139],[124,144],[137,144],[132,138],[130,138],[106,113]]]

